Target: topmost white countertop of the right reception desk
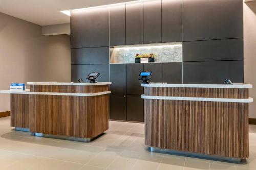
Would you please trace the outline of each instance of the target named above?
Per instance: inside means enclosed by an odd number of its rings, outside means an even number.
[[[190,87],[190,88],[252,88],[251,84],[166,84],[166,83],[149,83],[141,84],[142,87]]]

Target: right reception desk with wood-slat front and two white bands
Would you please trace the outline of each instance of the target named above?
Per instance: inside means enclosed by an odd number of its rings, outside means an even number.
[[[142,84],[145,144],[215,159],[248,158],[252,85]]]

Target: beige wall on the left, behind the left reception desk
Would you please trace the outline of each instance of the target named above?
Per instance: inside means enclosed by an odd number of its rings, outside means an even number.
[[[0,90],[12,82],[70,82],[70,36],[43,36],[41,27],[0,13]],[[10,110],[0,94],[0,112]]]

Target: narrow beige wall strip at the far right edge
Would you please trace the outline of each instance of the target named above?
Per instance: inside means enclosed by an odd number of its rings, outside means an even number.
[[[244,82],[253,85],[249,117],[256,118],[256,1],[244,3]]]

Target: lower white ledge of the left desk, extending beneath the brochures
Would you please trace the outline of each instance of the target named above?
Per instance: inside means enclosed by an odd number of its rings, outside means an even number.
[[[59,92],[34,92],[26,89],[26,91],[10,91],[10,90],[0,90],[2,94],[37,94],[37,95],[69,95],[69,96],[96,96],[103,94],[110,94],[111,91],[103,91],[97,93],[59,93]]]

